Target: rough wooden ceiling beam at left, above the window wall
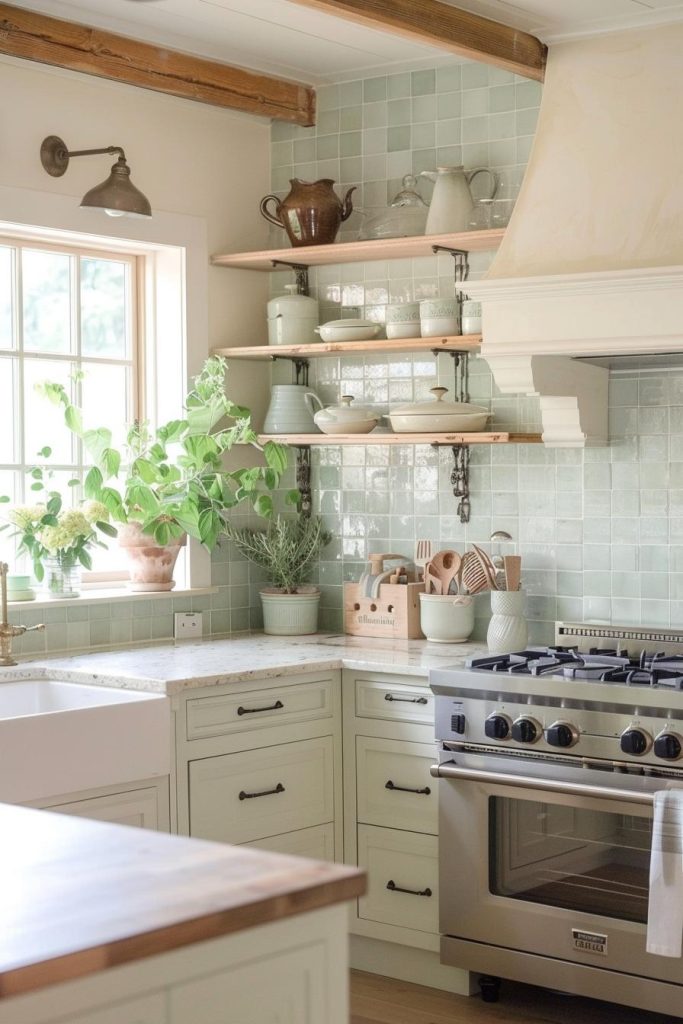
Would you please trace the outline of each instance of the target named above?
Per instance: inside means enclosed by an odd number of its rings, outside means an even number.
[[[0,53],[246,114],[315,124],[315,92],[307,85],[5,3],[0,3]]]

